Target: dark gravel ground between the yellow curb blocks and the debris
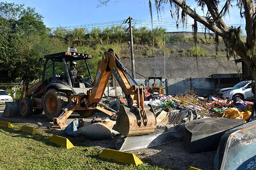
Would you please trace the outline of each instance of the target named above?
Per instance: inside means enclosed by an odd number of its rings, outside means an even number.
[[[11,123],[31,123],[37,128],[45,129],[46,133],[65,136],[62,130],[50,130],[48,127],[52,125],[48,122],[44,115],[32,115],[30,117],[14,117],[5,118],[2,117],[4,107],[0,107],[0,120],[10,121]],[[96,114],[95,116],[102,117],[102,114]],[[66,123],[72,122],[75,118],[82,119],[78,114],[72,114]],[[88,124],[93,117],[84,119]],[[103,140],[89,140],[83,136],[69,137],[70,141],[82,142],[83,146],[97,146],[100,148],[116,149],[115,143],[118,136],[103,139]],[[149,164],[156,165],[158,167],[173,169],[173,170],[187,170],[190,166],[203,169],[213,170],[213,162],[216,151],[204,152],[204,153],[187,153],[183,148],[183,139],[171,142],[169,144],[132,151],[142,161],[146,161]]]

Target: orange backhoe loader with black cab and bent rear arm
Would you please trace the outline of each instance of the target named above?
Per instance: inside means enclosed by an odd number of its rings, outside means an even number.
[[[90,117],[97,109],[108,115],[115,114],[99,107],[108,80],[113,73],[128,100],[129,108],[120,106],[114,129],[124,136],[150,134],[156,130],[156,116],[144,107],[142,87],[132,78],[126,68],[120,63],[119,56],[112,49],[104,52],[102,60],[98,61],[97,74],[92,87],[86,88],[82,82],[71,84],[67,63],[78,60],[87,60],[91,55],[66,51],[46,55],[42,82],[37,96],[38,108],[43,111],[49,120],[53,120],[52,127],[65,128],[65,120],[74,112],[82,117]],[[57,73],[57,68],[64,66],[64,71]],[[88,64],[86,61],[86,66]],[[88,68],[90,73],[90,70]],[[90,76],[91,77],[91,76]],[[131,85],[133,83],[134,85]],[[27,97],[29,98],[29,97]],[[26,104],[27,110],[31,104]],[[24,109],[26,110],[26,109]]]

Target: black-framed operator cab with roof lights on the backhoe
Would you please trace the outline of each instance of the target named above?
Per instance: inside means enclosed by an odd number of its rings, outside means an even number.
[[[92,59],[93,56],[84,53],[78,53],[77,49],[68,48],[68,51],[59,52],[55,54],[45,55],[46,59],[43,69],[43,93],[50,88],[57,88],[59,90],[69,91],[70,94],[86,93],[88,89],[92,87],[92,76],[87,63],[87,59]],[[82,79],[82,73],[85,70],[79,70],[78,76],[72,86],[70,78],[70,66],[77,65],[77,62],[81,65],[86,65],[87,79]],[[82,62],[85,64],[82,64]],[[86,80],[86,81],[84,81]]]

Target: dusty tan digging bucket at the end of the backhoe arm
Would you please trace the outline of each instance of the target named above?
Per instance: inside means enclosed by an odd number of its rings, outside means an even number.
[[[140,120],[140,117],[136,108],[129,109],[128,107],[120,105],[117,122],[113,129],[124,136],[151,134],[156,130],[156,116],[148,110],[146,115],[147,122],[139,123],[138,121]]]

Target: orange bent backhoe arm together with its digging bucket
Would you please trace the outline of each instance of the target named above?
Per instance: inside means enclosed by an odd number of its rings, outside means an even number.
[[[143,89],[138,86],[137,82],[120,63],[118,54],[112,49],[105,52],[105,58],[98,62],[97,75],[93,87],[89,91],[87,107],[98,105],[112,73],[122,88],[130,107],[120,106],[114,129],[125,136],[153,133],[156,130],[156,117],[152,112],[147,113],[144,108]],[[135,85],[131,85],[127,76]],[[137,107],[132,106],[134,103],[137,104]]]

